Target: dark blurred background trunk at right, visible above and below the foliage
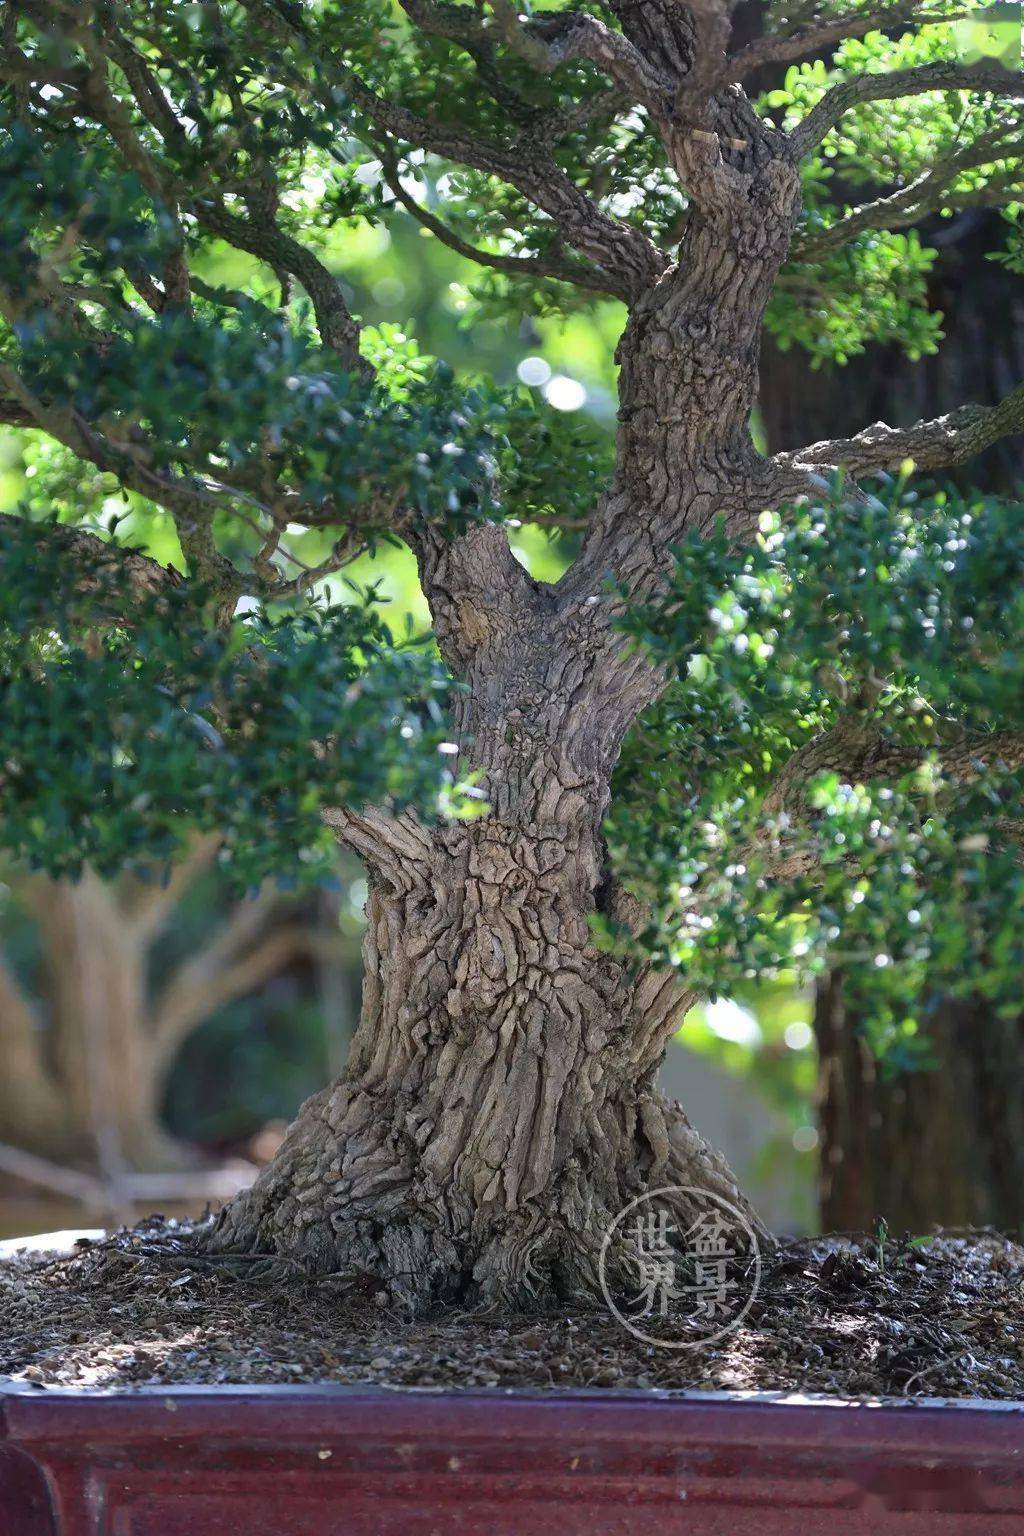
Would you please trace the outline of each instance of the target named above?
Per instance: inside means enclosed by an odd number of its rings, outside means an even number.
[[[743,15],[755,35],[761,5]],[[979,52],[1012,63],[1019,9],[992,8]],[[777,80],[766,77],[763,89]],[[771,450],[852,433],[858,422],[906,425],[970,396],[999,399],[1024,370],[1024,284],[1001,260],[1006,221],[967,209],[921,226],[933,252],[927,306],[943,316],[941,346],[923,356],[889,341],[820,359],[769,336],[761,353],[761,425]],[[1024,439],[1004,438],[947,476],[963,488],[1019,496]],[[1024,1018],[984,1000],[936,997],[927,1031],[930,1064],[886,1069],[872,1051],[841,977],[823,980],[814,1006],[818,1051],[818,1217],[824,1230],[864,1230],[884,1217],[895,1230],[932,1224],[1024,1227]],[[809,1138],[808,1138],[809,1140]]]

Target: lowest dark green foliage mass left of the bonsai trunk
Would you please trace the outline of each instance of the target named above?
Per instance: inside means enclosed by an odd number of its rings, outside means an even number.
[[[295,882],[333,868],[324,803],[442,791],[444,670],[398,648],[372,604],[212,627],[189,584],[140,594],[115,558],[72,564],[38,531],[0,531],[15,856],[109,876],[161,865],[198,828],[223,834],[236,883]]]

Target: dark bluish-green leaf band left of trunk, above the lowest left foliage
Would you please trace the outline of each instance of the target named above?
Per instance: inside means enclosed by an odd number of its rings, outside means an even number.
[[[368,338],[384,364],[372,384],[309,330],[252,303],[227,318],[132,313],[100,346],[83,346],[48,310],[15,335],[37,395],[88,421],[130,419],[160,468],[187,472],[201,455],[224,465],[230,485],[270,455],[304,516],[356,525],[362,504],[382,495],[456,527],[496,510],[500,396],[459,386],[398,327]]]

